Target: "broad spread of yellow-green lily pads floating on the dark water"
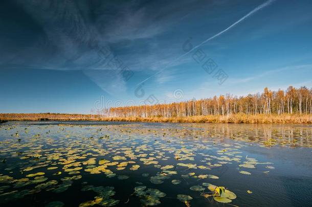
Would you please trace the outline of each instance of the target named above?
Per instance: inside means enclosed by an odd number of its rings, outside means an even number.
[[[81,190],[94,191],[96,195],[80,203],[80,206],[118,204],[120,201],[113,198],[116,194],[113,187],[94,187],[86,183],[91,183],[92,179],[88,178],[94,177],[95,180],[103,180],[103,183],[120,182],[124,188],[134,188],[134,192],[127,195],[127,202],[136,198],[143,205],[162,204],[170,190],[162,192],[163,185],[169,183],[172,189],[177,189],[176,198],[186,206],[196,202],[198,197],[179,194],[183,193],[179,192],[179,187],[186,187],[189,192],[193,191],[207,199],[213,198],[211,201],[227,203],[232,202],[236,195],[224,187],[208,183],[212,179],[222,181],[222,174],[215,169],[235,165],[242,174],[237,173],[238,176],[263,172],[265,168],[274,169],[272,163],[261,163],[255,158],[246,157],[240,150],[245,146],[243,142],[237,142],[234,146],[221,143],[218,140],[221,134],[212,134],[207,130],[194,132],[198,139],[194,136],[194,140],[189,142],[187,139],[192,132],[187,128],[150,130],[142,127],[136,130],[128,125],[47,127],[30,126],[28,134],[24,133],[24,128],[19,129],[19,136],[23,138],[19,143],[10,136],[17,130],[12,128],[7,133],[11,140],[1,143],[0,149],[6,156],[3,163],[10,164],[0,174],[0,182],[4,183],[0,187],[0,196],[4,201],[40,191],[66,193],[76,188],[76,184],[80,183],[77,180],[82,180]],[[209,137],[201,139],[207,137],[207,133]],[[11,158],[19,162],[11,164]],[[133,183],[137,187],[131,186]],[[19,188],[28,189],[20,191]],[[54,204],[57,206],[57,201]]]

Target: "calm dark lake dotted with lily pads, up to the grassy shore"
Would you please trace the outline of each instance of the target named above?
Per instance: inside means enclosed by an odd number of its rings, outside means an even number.
[[[0,206],[312,206],[312,125],[8,122]]]

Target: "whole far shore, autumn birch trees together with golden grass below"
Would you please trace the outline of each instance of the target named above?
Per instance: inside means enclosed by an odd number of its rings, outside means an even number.
[[[0,113],[0,120],[130,121],[196,123],[312,123],[312,89],[287,90],[248,96],[220,95],[179,103],[111,107],[96,114]]]

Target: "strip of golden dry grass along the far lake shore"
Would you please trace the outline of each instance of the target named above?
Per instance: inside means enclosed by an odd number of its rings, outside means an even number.
[[[173,123],[263,123],[263,124],[312,124],[312,115],[306,114],[231,114],[229,116],[193,116],[193,117],[131,117],[103,118],[92,114],[59,113],[0,113],[1,120],[8,121],[112,121],[112,122],[173,122]]]

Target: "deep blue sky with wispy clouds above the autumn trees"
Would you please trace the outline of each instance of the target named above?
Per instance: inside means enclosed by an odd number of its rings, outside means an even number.
[[[0,112],[312,87],[311,1],[4,0],[0,10]]]

